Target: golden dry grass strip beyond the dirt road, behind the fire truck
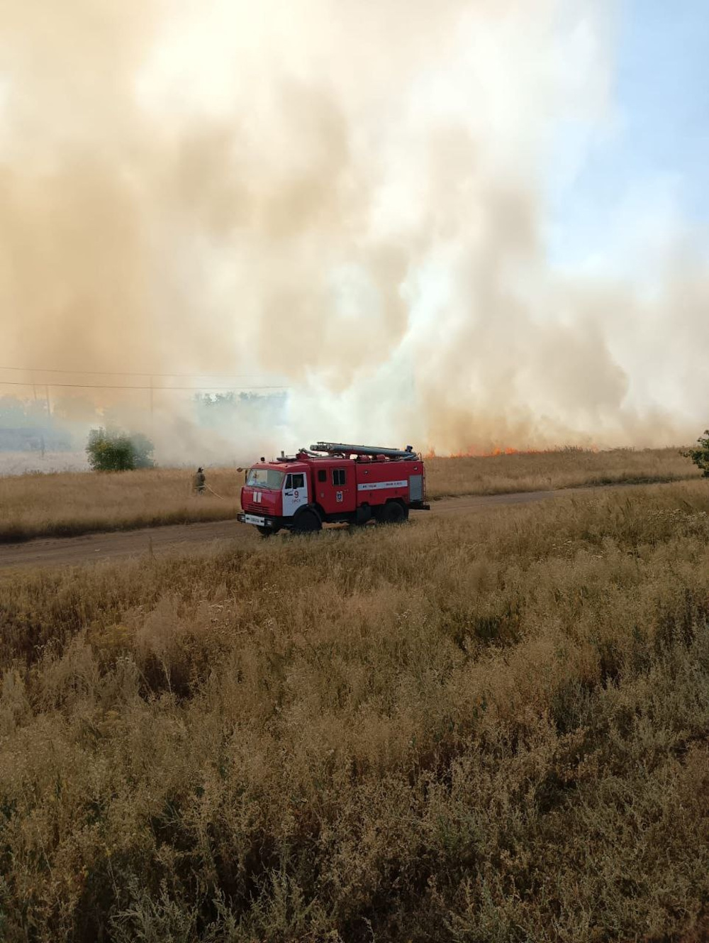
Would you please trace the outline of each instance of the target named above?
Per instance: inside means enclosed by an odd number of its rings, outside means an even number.
[[[428,496],[502,494],[612,483],[665,482],[699,472],[676,449],[576,449],[477,458],[429,458]],[[64,472],[0,477],[0,541],[74,536],[187,521],[219,521],[239,510],[243,475],[207,470],[220,498],[190,492],[191,473]]]

